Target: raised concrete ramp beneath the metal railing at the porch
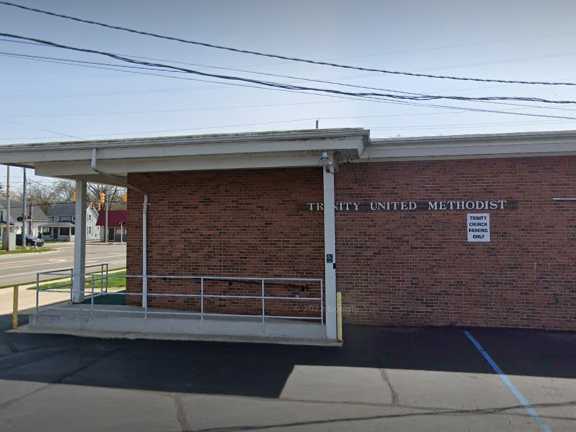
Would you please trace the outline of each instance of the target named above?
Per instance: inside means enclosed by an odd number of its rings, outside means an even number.
[[[30,316],[21,333],[67,334],[83,337],[203,340],[227,342],[279,343],[292,345],[340,346],[326,338],[317,322],[294,319],[237,316],[204,316],[173,310],[142,309],[126,305],[63,304],[41,308]]]

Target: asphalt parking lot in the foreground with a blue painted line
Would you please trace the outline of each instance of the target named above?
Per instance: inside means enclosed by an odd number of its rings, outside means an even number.
[[[335,349],[3,331],[0,430],[574,431],[576,334],[347,327]]]

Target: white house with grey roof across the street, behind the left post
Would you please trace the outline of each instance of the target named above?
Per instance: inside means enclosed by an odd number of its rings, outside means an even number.
[[[44,225],[45,240],[73,241],[76,215],[74,203],[52,204],[47,211],[48,223]],[[98,211],[92,206],[86,209],[86,240],[100,240],[100,227],[96,225]]]

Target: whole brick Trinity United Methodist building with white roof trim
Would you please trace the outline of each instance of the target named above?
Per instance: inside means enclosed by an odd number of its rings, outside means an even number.
[[[575,132],[108,143],[67,144],[84,151],[74,163],[13,162],[124,179],[128,273],[140,276],[128,290],[148,307],[321,315],[334,339],[339,292],[345,323],[576,330]]]

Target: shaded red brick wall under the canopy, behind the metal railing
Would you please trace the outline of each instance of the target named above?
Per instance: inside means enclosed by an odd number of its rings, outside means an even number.
[[[303,211],[322,199],[319,169],[131,174],[149,193],[149,274],[323,277],[323,221]],[[128,268],[141,269],[142,197],[130,193]],[[319,283],[267,283],[267,295],[317,297]],[[131,281],[129,289],[140,291]],[[198,280],[149,282],[151,293],[199,294]],[[259,282],[206,281],[206,294],[259,295]],[[199,310],[198,301],[151,297],[151,305]],[[261,313],[259,299],[210,299],[206,312]],[[266,312],[318,316],[319,303],[267,300]]]

